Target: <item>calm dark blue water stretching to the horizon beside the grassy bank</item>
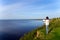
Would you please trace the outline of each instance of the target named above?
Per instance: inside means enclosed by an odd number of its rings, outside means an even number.
[[[42,20],[0,20],[0,40],[18,40],[42,25]]]

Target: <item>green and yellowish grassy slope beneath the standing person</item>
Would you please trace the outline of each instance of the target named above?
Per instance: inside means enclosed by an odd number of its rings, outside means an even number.
[[[36,37],[37,31],[39,37]],[[46,35],[45,25],[24,34],[20,40],[60,40],[60,18],[50,20],[49,33]]]

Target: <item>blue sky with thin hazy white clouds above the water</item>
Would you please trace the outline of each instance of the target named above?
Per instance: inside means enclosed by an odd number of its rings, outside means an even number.
[[[60,17],[60,0],[0,0],[0,19]]]

